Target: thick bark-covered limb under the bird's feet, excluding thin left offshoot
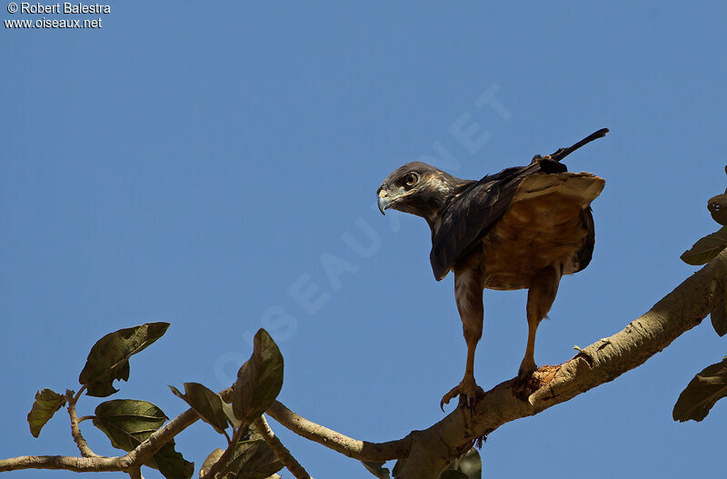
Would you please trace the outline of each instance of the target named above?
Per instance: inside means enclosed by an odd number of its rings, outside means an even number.
[[[514,379],[496,385],[477,403],[472,419],[460,408],[416,432],[401,479],[436,478],[468,441],[568,401],[643,364],[710,314],[716,299],[712,282],[725,274],[727,250],[621,332],[591,344],[564,364],[542,367],[524,387]]]

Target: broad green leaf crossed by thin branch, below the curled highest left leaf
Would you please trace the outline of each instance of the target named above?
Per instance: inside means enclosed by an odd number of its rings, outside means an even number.
[[[147,401],[115,399],[98,404],[94,425],[115,448],[129,452],[162,427],[166,419],[161,409]],[[167,479],[189,479],[194,474],[194,464],[174,450],[174,441],[164,444],[144,465],[158,469]]]

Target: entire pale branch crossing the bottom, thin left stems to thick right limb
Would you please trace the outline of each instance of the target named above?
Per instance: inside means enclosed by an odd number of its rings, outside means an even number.
[[[308,421],[277,401],[268,409],[267,414],[295,434],[354,459],[386,461],[407,457],[400,474],[401,479],[436,478],[443,467],[460,453],[464,444],[481,435],[492,433],[503,424],[538,414],[593,387],[610,382],[662,351],[674,339],[700,324],[710,314],[716,301],[713,281],[725,276],[727,250],[692,274],[621,332],[591,344],[564,364],[543,366],[533,374],[527,384],[519,384],[511,379],[496,385],[476,404],[472,417],[463,414],[463,409],[458,408],[439,423],[423,431],[413,431],[396,441],[358,441]],[[221,394],[225,396],[229,391],[230,388]],[[82,444],[85,444],[80,430],[77,434],[74,431],[74,418],[75,429],[78,418],[75,417],[75,408],[73,413],[70,409],[69,405],[74,439],[80,438]],[[17,469],[65,469],[79,473],[132,472],[134,467],[143,464],[197,419],[199,416],[194,410],[184,411],[164,424],[134,451],[122,457],[20,456],[0,460],[0,472]],[[78,445],[82,454],[93,454],[90,448],[84,452],[83,446]],[[88,445],[85,444],[85,447]]]

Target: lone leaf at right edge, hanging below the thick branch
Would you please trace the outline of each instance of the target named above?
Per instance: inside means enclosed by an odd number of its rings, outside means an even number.
[[[679,394],[672,417],[680,423],[690,419],[702,421],[712,406],[724,396],[727,396],[727,357],[694,376]]]

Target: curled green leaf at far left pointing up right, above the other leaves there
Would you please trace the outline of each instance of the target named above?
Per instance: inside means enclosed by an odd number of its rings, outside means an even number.
[[[146,323],[120,329],[99,339],[78,377],[78,382],[86,386],[86,394],[106,397],[117,392],[114,380],[129,379],[129,357],[162,337],[168,327],[169,323]]]

